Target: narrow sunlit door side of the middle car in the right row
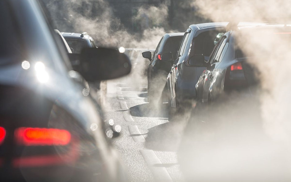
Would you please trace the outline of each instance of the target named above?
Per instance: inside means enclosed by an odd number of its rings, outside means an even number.
[[[174,61],[174,64],[171,68],[171,71],[168,75],[168,90],[169,90],[169,99],[171,101],[171,105],[173,107],[176,107],[176,102],[175,102],[175,97],[176,97],[176,93],[175,93],[175,83],[176,83],[176,74],[177,74],[177,67],[178,67],[178,62],[181,58],[181,56],[183,56],[184,54],[184,50],[185,50],[185,46],[187,44],[189,35],[190,35],[191,29],[188,29],[187,32],[185,32],[184,37],[181,41],[181,45],[179,48],[179,51],[177,53],[177,58]]]

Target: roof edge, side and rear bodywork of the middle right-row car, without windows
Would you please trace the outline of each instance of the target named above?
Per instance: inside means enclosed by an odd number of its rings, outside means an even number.
[[[205,68],[189,67],[186,65],[189,57],[196,52],[194,49],[194,39],[201,33],[208,31],[224,30],[227,22],[221,23],[205,23],[198,25],[190,25],[184,37],[188,34],[187,42],[183,54],[177,56],[174,65],[167,77],[169,101],[171,107],[177,107],[176,101],[183,102],[184,100],[196,98],[196,83],[203,73]],[[184,41],[183,41],[184,42]],[[180,45],[180,52],[182,51],[182,43]],[[177,68],[175,68],[177,67]],[[177,92],[177,93],[176,93]]]

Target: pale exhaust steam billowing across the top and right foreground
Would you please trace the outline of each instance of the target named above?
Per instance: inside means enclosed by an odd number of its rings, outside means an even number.
[[[291,19],[267,18],[291,17],[291,1],[287,0],[184,0],[174,3],[179,5],[177,9],[192,7],[195,11],[176,12],[175,16],[169,13],[177,11],[169,8],[170,1],[141,6],[132,17],[133,22],[141,23],[141,32],[125,27],[103,0],[94,5],[92,1],[57,2],[51,0],[47,4],[60,32],[88,32],[97,46],[106,47],[154,49],[165,33],[184,32],[190,24],[205,20],[291,24]],[[82,6],[87,11],[81,11]],[[187,14],[195,14],[197,19],[187,18]],[[173,25],[180,17],[184,19]],[[175,118],[182,121],[173,125],[179,132],[188,122],[178,153],[186,181],[291,181],[290,37],[274,36],[277,30],[273,29],[260,29],[259,33],[254,33],[257,29],[243,30],[235,36],[248,63],[258,70],[260,86],[251,88],[258,100],[233,92],[207,110],[194,109],[189,122],[189,114]],[[140,88],[146,85],[144,70],[148,60],[137,59],[146,63],[138,65],[126,80]],[[159,105],[152,108],[157,112]],[[211,122],[204,122],[202,116]],[[171,128],[170,132],[177,130]]]

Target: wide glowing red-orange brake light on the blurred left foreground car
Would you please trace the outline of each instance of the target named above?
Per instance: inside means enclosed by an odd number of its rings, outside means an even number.
[[[20,145],[68,145],[71,134],[54,128],[18,128],[15,138]]]

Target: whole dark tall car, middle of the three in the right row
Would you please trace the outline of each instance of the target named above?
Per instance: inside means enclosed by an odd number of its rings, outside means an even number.
[[[238,26],[256,26],[262,24],[240,22]],[[189,65],[189,59],[194,55],[203,55],[204,59],[208,60],[217,41],[226,32],[227,25],[228,22],[190,25],[184,33],[178,54],[167,76],[169,118],[173,118],[177,113],[182,114],[185,110],[195,106],[195,103],[193,103],[196,99],[195,85],[206,68]]]

